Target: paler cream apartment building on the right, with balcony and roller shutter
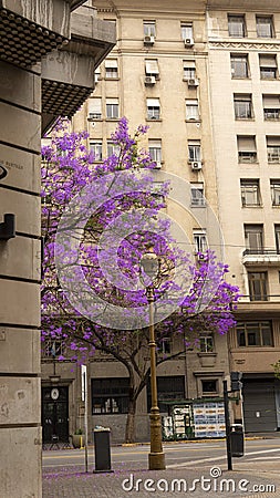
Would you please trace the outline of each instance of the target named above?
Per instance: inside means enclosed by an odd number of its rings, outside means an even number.
[[[209,86],[219,219],[243,298],[230,370],[243,372],[247,430],[280,427],[280,8],[208,1]]]

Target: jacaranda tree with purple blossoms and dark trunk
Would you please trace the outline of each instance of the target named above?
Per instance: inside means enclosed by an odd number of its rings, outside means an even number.
[[[158,349],[182,338],[182,349],[158,354],[157,364],[183,354],[200,332],[225,334],[238,300],[210,248],[194,258],[177,243],[165,209],[169,183],[155,183],[155,163],[138,144],[144,133],[139,126],[129,135],[122,118],[114,153],[97,163],[87,134],[61,121],[42,148],[42,341],[63,341],[61,361],[102,351],[125,366],[126,442],[134,439],[136,402],[149,380],[146,288],[154,289]],[[158,260],[153,282],[141,274],[148,251]]]

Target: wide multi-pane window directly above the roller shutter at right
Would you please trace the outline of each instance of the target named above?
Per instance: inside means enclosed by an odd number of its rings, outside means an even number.
[[[239,347],[273,345],[271,322],[238,322],[236,331]]]

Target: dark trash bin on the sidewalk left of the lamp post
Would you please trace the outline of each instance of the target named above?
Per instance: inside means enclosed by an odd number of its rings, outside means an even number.
[[[94,473],[112,473],[111,469],[111,448],[110,448],[110,428],[96,427],[93,430],[94,440]]]

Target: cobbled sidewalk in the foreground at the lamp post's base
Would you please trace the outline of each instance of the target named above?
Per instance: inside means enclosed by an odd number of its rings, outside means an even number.
[[[139,470],[122,464],[112,474],[93,474],[92,467],[87,474],[64,468],[55,474],[44,473],[43,498],[280,497],[280,460],[263,465],[235,459],[235,470],[226,468],[225,464],[215,463],[166,470]]]

